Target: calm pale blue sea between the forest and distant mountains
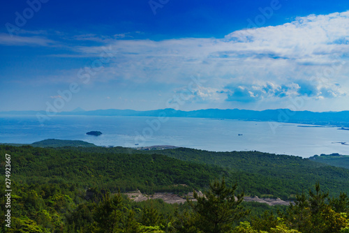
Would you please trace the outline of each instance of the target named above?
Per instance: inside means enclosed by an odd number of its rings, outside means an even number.
[[[302,126],[302,127],[299,127]],[[0,142],[30,144],[45,139],[84,140],[98,146],[173,145],[208,151],[263,151],[309,157],[349,154],[349,130],[295,123],[156,117],[1,116]],[[86,135],[98,130],[99,137]]]

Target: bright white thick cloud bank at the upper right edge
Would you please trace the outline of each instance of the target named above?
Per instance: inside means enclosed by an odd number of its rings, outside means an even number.
[[[235,31],[225,39],[237,41],[243,45],[243,50],[273,52],[288,59],[314,59],[348,52],[348,31],[349,11],[297,17],[294,22],[276,27]]]

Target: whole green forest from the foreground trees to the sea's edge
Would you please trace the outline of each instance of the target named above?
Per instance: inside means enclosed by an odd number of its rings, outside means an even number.
[[[11,227],[0,232],[349,232],[349,170],[342,167],[258,151],[54,143],[0,145],[1,174],[11,157],[12,190]],[[5,190],[2,182],[3,197]],[[195,200],[135,202],[125,195],[134,190],[194,192]],[[292,204],[243,202],[254,195]]]

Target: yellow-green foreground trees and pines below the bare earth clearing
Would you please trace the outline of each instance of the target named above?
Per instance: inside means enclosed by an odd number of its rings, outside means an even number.
[[[1,185],[0,194],[4,195]],[[346,233],[349,198],[328,198],[315,186],[309,197],[297,195],[285,211],[258,215],[242,204],[243,193],[214,181],[198,202],[165,204],[161,200],[131,202],[121,193],[94,190],[86,200],[84,190],[68,184],[13,185],[11,227],[0,232],[230,232],[230,233]],[[0,201],[1,206],[4,200]],[[248,206],[247,206],[248,207]],[[4,213],[1,209],[1,222]]]

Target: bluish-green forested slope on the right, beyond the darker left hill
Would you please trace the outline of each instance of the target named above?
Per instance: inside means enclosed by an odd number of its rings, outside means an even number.
[[[124,147],[73,148],[94,153],[161,154],[178,160],[221,167],[227,179],[239,184],[239,190],[258,197],[280,197],[289,200],[302,190],[319,182],[331,195],[349,191],[349,170],[331,167],[297,156],[276,155],[258,151],[213,152],[178,148],[138,151]]]

